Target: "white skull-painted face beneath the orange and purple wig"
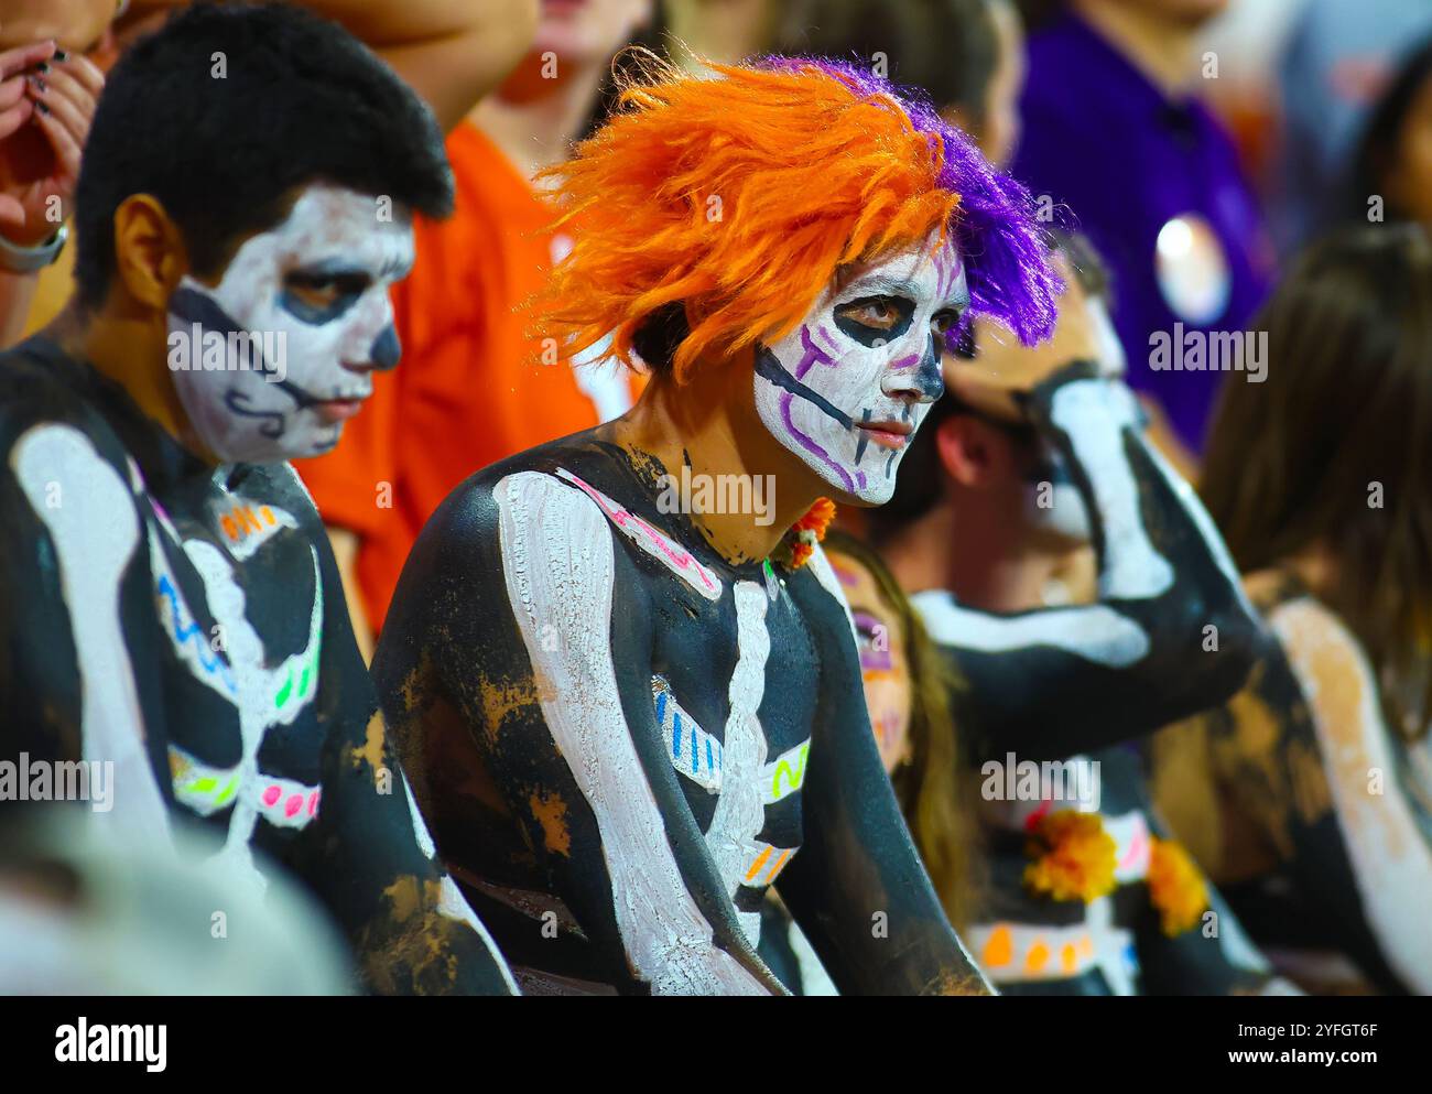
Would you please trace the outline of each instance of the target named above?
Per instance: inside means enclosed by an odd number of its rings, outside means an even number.
[[[756,412],[845,500],[879,505],[944,391],[944,334],[969,305],[952,241],[871,262],[829,285],[785,338],[756,345]]]

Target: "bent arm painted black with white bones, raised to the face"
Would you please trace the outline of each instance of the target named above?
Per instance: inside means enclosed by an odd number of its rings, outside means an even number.
[[[1040,384],[1030,408],[1090,513],[1098,603],[992,613],[945,593],[912,600],[969,682],[981,753],[1058,759],[1227,699],[1260,634],[1217,531],[1144,440],[1121,381],[1075,362]]]

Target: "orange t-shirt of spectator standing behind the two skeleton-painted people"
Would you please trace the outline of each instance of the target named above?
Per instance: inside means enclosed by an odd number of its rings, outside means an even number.
[[[451,490],[514,452],[624,410],[626,377],[606,377],[604,414],[567,365],[543,365],[514,311],[567,242],[527,179],[477,126],[448,135],[457,183],[448,221],[415,218],[412,274],[392,289],[402,362],[338,447],[295,463],[328,524],[358,536],[357,576],[374,631],[418,531]],[[617,379],[617,402],[610,402]],[[593,381],[586,381],[591,384]],[[603,382],[600,374],[596,382]]]

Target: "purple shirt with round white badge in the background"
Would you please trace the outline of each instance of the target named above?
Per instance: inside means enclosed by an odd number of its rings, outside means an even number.
[[[1081,229],[1108,262],[1128,382],[1154,395],[1197,451],[1224,374],[1156,369],[1150,337],[1164,332],[1177,344],[1200,331],[1243,331],[1267,291],[1272,246],[1233,142],[1203,103],[1166,99],[1073,16],[1031,36],[1028,52],[1030,79],[1020,103],[1024,139],[1012,173],[1037,196],[1068,206],[1061,219]],[[1226,304],[1203,306],[1201,315],[1186,304],[1176,311],[1170,299],[1186,298],[1166,296],[1160,288],[1160,229],[1180,216],[1206,222],[1207,241],[1216,246],[1201,253],[1221,251],[1226,263]],[[1180,235],[1166,241],[1179,243]],[[1176,246],[1167,252],[1179,253]],[[1206,288],[1220,279],[1191,281]],[[1160,362],[1173,359],[1183,364],[1176,345]],[[1234,372],[1233,379],[1243,382],[1244,374]]]

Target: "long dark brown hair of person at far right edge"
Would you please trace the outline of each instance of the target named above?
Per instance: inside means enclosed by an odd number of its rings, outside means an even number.
[[[1305,251],[1256,324],[1262,384],[1224,384],[1203,497],[1244,573],[1326,550],[1317,590],[1358,636],[1389,725],[1432,716],[1432,239],[1340,229]],[[1372,504],[1375,493],[1380,504]]]

